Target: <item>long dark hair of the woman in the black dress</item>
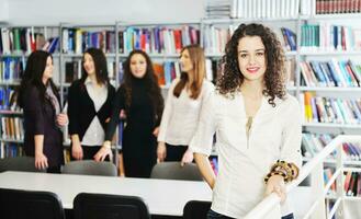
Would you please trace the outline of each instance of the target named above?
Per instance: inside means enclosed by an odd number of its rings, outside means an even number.
[[[146,87],[148,90],[149,99],[153,103],[153,110],[155,113],[155,122],[160,120],[161,114],[165,107],[165,102],[161,95],[160,88],[158,85],[158,79],[154,72],[153,62],[149,58],[149,56],[139,49],[132,50],[126,60],[123,62],[123,69],[124,69],[124,80],[121,84],[121,88],[125,90],[125,112],[129,112],[129,107],[132,104],[132,81],[134,80],[134,77],[132,74],[131,70],[131,60],[132,57],[136,54],[142,55],[147,62],[147,69],[146,73],[144,76],[144,80],[146,81]]]

